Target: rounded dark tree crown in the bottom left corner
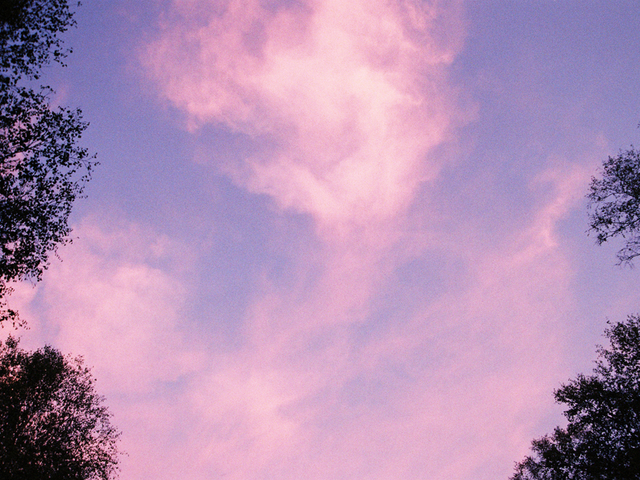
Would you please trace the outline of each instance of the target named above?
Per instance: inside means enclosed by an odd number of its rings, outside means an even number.
[[[107,480],[119,432],[82,358],[0,342],[0,478]]]

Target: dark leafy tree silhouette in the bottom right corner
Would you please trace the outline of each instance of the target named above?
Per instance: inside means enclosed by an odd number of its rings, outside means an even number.
[[[590,376],[555,391],[568,425],[533,441],[512,480],[640,479],[640,316],[605,330]]]

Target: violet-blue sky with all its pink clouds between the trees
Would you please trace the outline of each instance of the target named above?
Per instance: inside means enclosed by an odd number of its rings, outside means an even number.
[[[43,80],[100,166],[11,305],[122,480],[507,479],[637,312],[590,178],[636,1],[86,0]],[[5,327],[1,334],[11,333]]]

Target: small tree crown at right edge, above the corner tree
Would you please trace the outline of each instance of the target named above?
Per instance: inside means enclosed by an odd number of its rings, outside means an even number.
[[[620,151],[604,162],[602,178],[592,178],[589,205],[590,230],[598,245],[620,236],[626,245],[618,252],[620,263],[640,255],[640,151]]]

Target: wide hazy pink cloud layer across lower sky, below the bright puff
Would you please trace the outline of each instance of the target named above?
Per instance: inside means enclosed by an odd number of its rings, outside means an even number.
[[[190,249],[136,225],[85,220],[25,301],[95,365],[124,431],[123,478],[506,476],[566,376],[556,321],[573,272],[556,228],[582,175],[550,169],[530,220],[490,250],[455,232],[406,249],[366,229],[328,240],[299,259],[311,279],[261,285],[233,352],[193,341],[201,324],[181,317]],[[445,261],[466,249],[460,287],[358,336],[421,246]]]

